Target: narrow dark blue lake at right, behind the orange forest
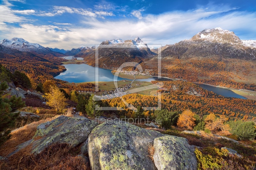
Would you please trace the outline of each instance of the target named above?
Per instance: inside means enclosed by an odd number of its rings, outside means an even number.
[[[239,98],[239,99],[246,99],[245,97],[236,94],[235,92],[229,90],[229,89],[223,89],[223,88],[219,88],[219,87],[214,87],[214,86],[209,86],[206,84],[198,84],[200,87],[202,87],[203,89],[206,89],[208,91],[212,91],[218,95],[224,96],[224,97],[235,97],[235,98]]]

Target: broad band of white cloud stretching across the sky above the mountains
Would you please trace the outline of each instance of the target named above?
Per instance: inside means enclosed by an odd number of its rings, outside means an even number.
[[[4,9],[3,9],[4,10]],[[6,9],[5,9],[6,10]],[[98,20],[83,18],[77,25],[32,25],[20,24],[20,27],[8,27],[1,38],[21,37],[29,42],[43,46],[64,49],[77,48],[81,45],[93,46],[103,40],[121,38],[134,39],[139,36],[147,44],[173,44],[183,39],[190,39],[205,28],[221,27],[234,31],[241,39],[256,39],[256,12],[232,11],[233,8],[209,9],[198,8],[189,11],[172,11],[159,15],[138,15],[139,19],[121,18],[120,20]],[[72,8],[56,8],[57,12],[83,12]],[[4,16],[1,16],[3,21]],[[3,12],[4,13],[4,12]],[[99,15],[96,14],[95,15]],[[104,15],[101,15],[103,17]],[[6,16],[8,17],[8,16]],[[12,18],[13,17],[13,18]],[[24,18],[10,16],[9,22],[21,22]],[[2,20],[1,20],[2,19]],[[13,21],[11,21],[13,19]],[[53,23],[57,25],[58,23]],[[62,27],[65,26],[65,27]],[[0,29],[6,28],[1,24]],[[10,31],[11,30],[11,31]],[[239,35],[243,31],[243,35]],[[4,37],[3,37],[4,36]]]

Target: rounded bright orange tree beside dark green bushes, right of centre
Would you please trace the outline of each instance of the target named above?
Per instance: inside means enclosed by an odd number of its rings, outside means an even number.
[[[191,110],[185,110],[180,114],[177,126],[192,130],[195,124],[195,113]]]

